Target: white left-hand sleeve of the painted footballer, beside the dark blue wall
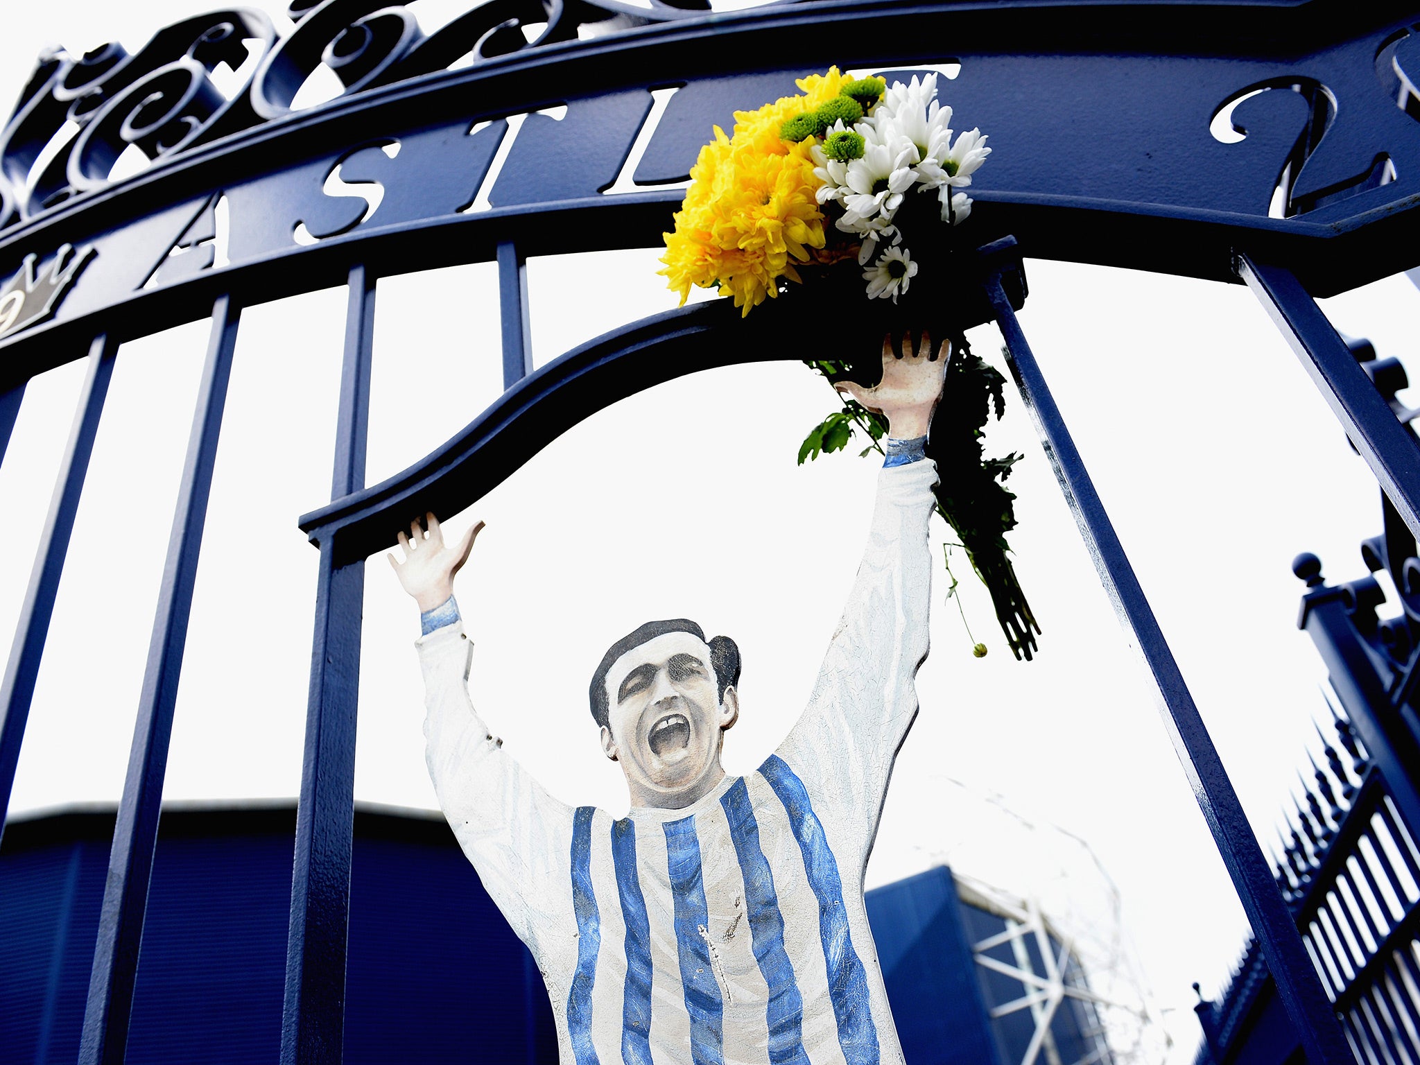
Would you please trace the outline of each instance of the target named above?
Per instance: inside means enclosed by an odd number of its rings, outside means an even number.
[[[518,765],[474,711],[467,686],[473,645],[462,623],[415,646],[439,805],[484,889],[541,964],[545,939],[538,933],[562,929],[571,916],[572,808]]]

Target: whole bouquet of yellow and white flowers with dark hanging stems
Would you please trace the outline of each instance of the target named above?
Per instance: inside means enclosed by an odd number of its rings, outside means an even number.
[[[737,111],[730,136],[714,126],[714,139],[690,170],[676,229],[665,234],[659,273],[680,293],[682,305],[692,285],[717,288],[748,315],[788,291],[788,283],[804,284],[807,275],[842,281],[856,263],[869,301],[858,315],[865,324],[880,320],[869,311],[883,304],[872,301],[896,305],[919,275],[933,287],[930,302],[910,302],[932,320],[936,341],[951,341],[944,399],[927,446],[941,477],[937,511],[991,592],[1012,652],[1030,659],[1039,626],[1005,557],[1015,496],[1003,481],[1021,456],[984,459],[980,443],[990,412],[1000,417],[1004,410],[1004,381],[971,355],[936,298],[950,277],[954,230],[971,214],[964,189],[991,153],[987,138],[980,129],[953,136],[951,108],[936,98],[936,74],[889,87],[883,78],[848,78],[831,67],[797,84],[802,95]],[[916,325],[929,331],[926,321]],[[889,324],[878,337],[883,332],[896,337],[902,329]],[[876,364],[878,349],[861,352],[869,354]],[[855,378],[852,359],[807,365],[829,383]],[[799,463],[846,447],[856,433],[868,439],[863,454],[882,452],[882,417],[842,396],[839,402],[804,440]],[[953,577],[949,595],[956,588]],[[977,656],[985,655],[984,643],[973,643]]]

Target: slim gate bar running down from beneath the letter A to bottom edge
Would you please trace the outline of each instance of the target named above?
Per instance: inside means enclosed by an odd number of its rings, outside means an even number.
[[[153,636],[148,648],[148,667],[133,724],[128,777],[109,849],[94,971],[84,1010],[80,1065],[124,1065],[128,1049],[133,977],[143,941],[153,848],[158,845],[168,744],[240,317],[241,311],[230,297],[219,300],[212,314],[212,339],[197,389],[197,408],[178,488],[168,561],[163,564]]]

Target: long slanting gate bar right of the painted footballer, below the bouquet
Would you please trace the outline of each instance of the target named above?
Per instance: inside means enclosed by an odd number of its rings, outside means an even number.
[[[997,324],[1021,399],[1031,412],[1041,443],[1089,548],[1095,569],[1120,623],[1143,656],[1159,689],[1164,727],[1184,774],[1213,831],[1252,930],[1262,941],[1268,966],[1288,1015],[1302,1035],[1312,1065],[1352,1065],[1353,1056],[1332,1014],[1326,993],[1306,956],[1292,916],[1252,835],[1237,792],[1179,672],[1173,652],[1135,577],[1105,506],[1075,449],[1069,429],[1021,332],[1000,275],[987,283]],[[1393,420],[1390,412],[1386,416]]]

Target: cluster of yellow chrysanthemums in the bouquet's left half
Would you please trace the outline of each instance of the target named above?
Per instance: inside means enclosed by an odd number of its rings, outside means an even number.
[[[808,263],[824,247],[814,141],[790,143],[780,126],[836,97],[845,81],[836,67],[811,74],[797,82],[805,95],[737,111],[733,136],[714,128],[690,170],[676,231],[663,234],[666,268],[659,273],[682,305],[692,285],[719,287],[748,314],[778,295],[778,278],[798,281],[794,263]]]

